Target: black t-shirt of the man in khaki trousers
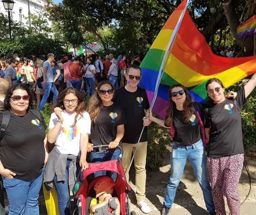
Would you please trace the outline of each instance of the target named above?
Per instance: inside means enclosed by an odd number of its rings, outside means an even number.
[[[115,91],[114,101],[124,107],[127,124],[124,125],[125,143],[137,143],[143,128],[144,109],[149,109],[146,91],[137,88],[135,92],[129,92],[124,87]],[[140,142],[147,141],[147,127],[144,128]]]

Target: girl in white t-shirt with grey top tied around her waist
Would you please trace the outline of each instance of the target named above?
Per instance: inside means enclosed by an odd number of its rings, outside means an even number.
[[[55,147],[49,154],[44,184],[47,190],[51,190],[54,181],[60,214],[70,215],[69,194],[75,184],[75,177],[80,169],[83,171],[88,168],[86,154],[91,120],[85,111],[83,97],[75,88],[63,90],[53,109],[47,137],[48,142],[54,143]]]

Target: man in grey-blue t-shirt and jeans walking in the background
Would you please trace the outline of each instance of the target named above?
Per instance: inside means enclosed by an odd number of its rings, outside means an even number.
[[[49,53],[47,55],[47,61],[43,64],[43,84],[44,95],[40,103],[39,111],[43,111],[47,98],[50,95],[50,92],[53,92],[53,104],[56,104],[58,97],[58,90],[54,85],[53,71],[51,68],[51,62],[54,61],[54,54]]]

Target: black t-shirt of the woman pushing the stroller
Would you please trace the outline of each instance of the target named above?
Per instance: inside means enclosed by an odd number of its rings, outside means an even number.
[[[94,146],[108,145],[115,140],[117,125],[126,124],[124,109],[115,102],[111,106],[103,106],[96,123],[91,125],[90,143]],[[119,143],[122,146],[122,142]]]

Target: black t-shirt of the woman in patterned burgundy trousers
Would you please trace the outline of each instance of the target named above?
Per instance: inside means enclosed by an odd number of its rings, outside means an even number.
[[[247,101],[244,88],[237,92],[235,100],[237,100],[238,106],[242,109]],[[244,153],[241,116],[233,99],[225,99],[220,104],[210,104],[208,116],[205,118],[205,127],[211,128],[209,157],[223,157]]]

